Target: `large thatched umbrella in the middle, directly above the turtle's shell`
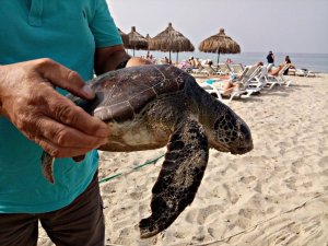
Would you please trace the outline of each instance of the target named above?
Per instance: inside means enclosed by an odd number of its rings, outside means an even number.
[[[149,45],[151,50],[160,50],[164,52],[168,51],[169,60],[171,51],[177,52],[178,60],[178,52],[195,50],[195,47],[191,44],[191,42],[181,33],[174,30],[172,23],[168,23],[168,26],[162,33],[151,38]]]

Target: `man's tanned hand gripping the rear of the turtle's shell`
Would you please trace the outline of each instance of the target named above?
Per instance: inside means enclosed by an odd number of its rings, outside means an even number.
[[[50,59],[0,67],[0,116],[55,157],[82,155],[104,144],[106,125],[54,86],[85,99],[94,97],[77,72]]]

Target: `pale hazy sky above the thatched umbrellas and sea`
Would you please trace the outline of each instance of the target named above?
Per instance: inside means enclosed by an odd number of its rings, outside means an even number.
[[[328,54],[328,0],[107,0],[116,25],[155,36],[172,22],[196,49],[220,28],[243,52]]]

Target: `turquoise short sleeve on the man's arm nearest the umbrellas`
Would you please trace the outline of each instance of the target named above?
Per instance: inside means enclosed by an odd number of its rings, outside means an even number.
[[[116,24],[109,13],[105,0],[95,0],[95,12],[90,23],[93,33],[95,46],[97,48],[121,45],[122,40],[116,27]]]

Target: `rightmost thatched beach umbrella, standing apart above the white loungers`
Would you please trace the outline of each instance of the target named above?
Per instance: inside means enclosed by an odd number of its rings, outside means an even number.
[[[241,52],[239,45],[234,42],[230,36],[226,36],[224,30],[221,28],[219,34],[210,36],[202,40],[199,45],[199,50],[203,52],[216,52],[218,63],[220,54],[238,54]]]

